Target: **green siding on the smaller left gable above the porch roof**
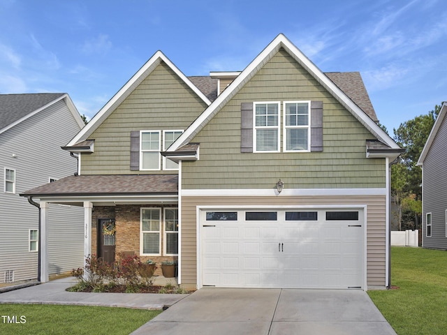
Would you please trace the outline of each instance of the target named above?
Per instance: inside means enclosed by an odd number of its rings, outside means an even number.
[[[82,154],[81,174],[177,173],[131,171],[131,131],[185,130],[206,107],[173,70],[160,64],[91,134],[95,152]]]

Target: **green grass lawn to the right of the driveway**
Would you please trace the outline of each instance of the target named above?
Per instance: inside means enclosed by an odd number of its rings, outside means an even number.
[[[368,291],[398,335],[447,334],[447,252],[391,248],[391,285]]]

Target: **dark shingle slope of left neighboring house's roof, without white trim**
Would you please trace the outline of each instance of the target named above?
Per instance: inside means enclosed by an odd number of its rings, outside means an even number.
[[[13,124],[63,94],[0,94],[0,129]]]

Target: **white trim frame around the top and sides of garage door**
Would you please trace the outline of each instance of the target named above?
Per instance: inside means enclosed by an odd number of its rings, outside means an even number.
[[[226,209],[226,210],[250,210],[250,209],[362,209],[363,211],[363,264],[362,264],[362,290],[367,291],[367,204],[332,204],[332,205],[282,205],[282,206],[265,206],[265,205],[198,205],[196,206],[196,282],[197,289],[202,285],[202,240],[200,229],[200,218],[202,211],[210,209]]]

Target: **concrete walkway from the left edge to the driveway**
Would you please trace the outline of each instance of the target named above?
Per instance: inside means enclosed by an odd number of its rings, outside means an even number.
[[[165,285],[175,278],[156,278],[154,285]],[[163,309],[189,295],[158,295],[152,293],[85,293],[67,292],[76,283],[68,277],[18,290],[0,293],[0,304],[57,304],[80,306],[124,307],[136,309]]]

